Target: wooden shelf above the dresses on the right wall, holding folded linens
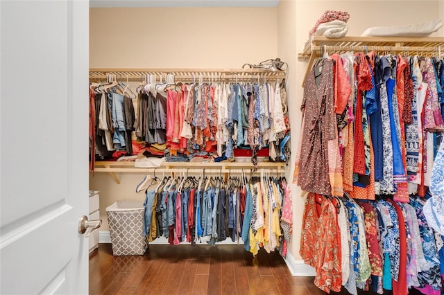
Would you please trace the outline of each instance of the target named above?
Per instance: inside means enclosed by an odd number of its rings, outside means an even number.
[[[337,39],[312,36],[298,57],[320,56],[321,51],[387,51],[416,55],[423,52],[444,51],[443,37],[341,37]]]

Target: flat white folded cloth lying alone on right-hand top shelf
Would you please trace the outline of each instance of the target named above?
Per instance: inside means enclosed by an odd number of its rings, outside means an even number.
[[[375,26],[362,33],[363,36],[375,37],[427,37],[443,26],[441,19],[434,19],[427,23],[411,24],[406,26]]]

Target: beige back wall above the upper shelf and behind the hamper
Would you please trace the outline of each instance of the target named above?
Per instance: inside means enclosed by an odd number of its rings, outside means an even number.
[[[89,18],[90,69],[240,69],[278,57],[277,8],[91,8]],[[129,81],[133,91],[139,79]],[[135,192],[143,174],[115,174],[120,184],[108,173],[89,177],[103,232],[107,206],[145,198]]]

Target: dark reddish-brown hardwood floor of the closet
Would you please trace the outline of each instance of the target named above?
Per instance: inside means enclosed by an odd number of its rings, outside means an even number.
[[[238,245],[154,245],[144,256],[89,256],[89,294],[324,294],[312,277],[293,277],[282,257]]]

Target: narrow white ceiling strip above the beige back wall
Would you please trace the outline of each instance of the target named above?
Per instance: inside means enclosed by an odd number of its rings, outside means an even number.
[[[89,7],[276,7],[278,3],[279,0],[89,0]]]

